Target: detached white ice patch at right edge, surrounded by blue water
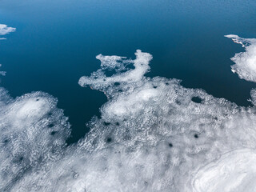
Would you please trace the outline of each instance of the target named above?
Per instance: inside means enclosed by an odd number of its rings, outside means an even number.
[[[231,38],[235,43],[241,44],[246,52],[235,54],[231,60],[235,65],[231,66],[232,72],[237,73],[239,78],[246,81],[256,82],[256,39],[240,38],[238,35],[229,34],[225,36]]]

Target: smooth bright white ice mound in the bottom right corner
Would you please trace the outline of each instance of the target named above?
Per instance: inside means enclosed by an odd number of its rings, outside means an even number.
[[[255,191],[255,161],[254,150],[234,150],[223,154],[218,161],[198,171],[193,180],[194,191]]]

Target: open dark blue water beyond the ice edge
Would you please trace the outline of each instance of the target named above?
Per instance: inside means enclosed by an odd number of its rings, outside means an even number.
[[[97,54],[153,54],[149,76],[182,79],[218,98],[248,106],[253,82],[233,74],[230,58],[243,51],[225,34],[256,38],[254,0],[1,0],[1,23],[17,28],[0,42],[2,86],[13,97],[42,90],[58,98],[75,142],[106,102],[78,86],[99,67]]]

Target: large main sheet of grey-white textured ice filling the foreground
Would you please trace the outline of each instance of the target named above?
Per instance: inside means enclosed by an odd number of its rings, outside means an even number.
[[[80,78],[108,102],[72,146],[56,99],[41,92],[13,99],[1,90],[1,191],[256,190],[255,107],[147,78],[152,56],[135,54],[98,55],[102,68]]]

